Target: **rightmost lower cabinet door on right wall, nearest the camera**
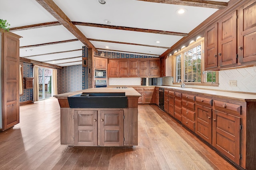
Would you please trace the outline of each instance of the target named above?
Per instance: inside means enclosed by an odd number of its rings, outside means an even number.
[[[214,110],[212,145],[232,161],[239,164],[240,118]]]

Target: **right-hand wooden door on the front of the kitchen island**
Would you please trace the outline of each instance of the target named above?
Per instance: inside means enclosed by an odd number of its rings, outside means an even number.
[[[124,111],[100,111],[100,145],[124,146]]]

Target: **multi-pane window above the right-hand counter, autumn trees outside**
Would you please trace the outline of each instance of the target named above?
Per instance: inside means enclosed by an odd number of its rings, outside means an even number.
[[[217,71],[204,71],[204,38],[174,54],[175,79],[186,83],[218,83]]]

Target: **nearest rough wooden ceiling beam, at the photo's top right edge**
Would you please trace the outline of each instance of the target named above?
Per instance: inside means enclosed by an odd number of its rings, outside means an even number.
[[[228,6],[227,2],[209,1],[209,0],[139,0],[146,2],[156,2],[162,4],[174,4],[185,6],[197,6],[204,8],[224,9]]]

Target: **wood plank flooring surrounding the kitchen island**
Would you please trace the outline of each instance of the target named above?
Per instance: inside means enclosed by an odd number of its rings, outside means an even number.
[[[20,106],[20,123],[0,132],[0,170],[234,170],[156,105],[139,105],[138,146],[60,145],[55,98]]]

